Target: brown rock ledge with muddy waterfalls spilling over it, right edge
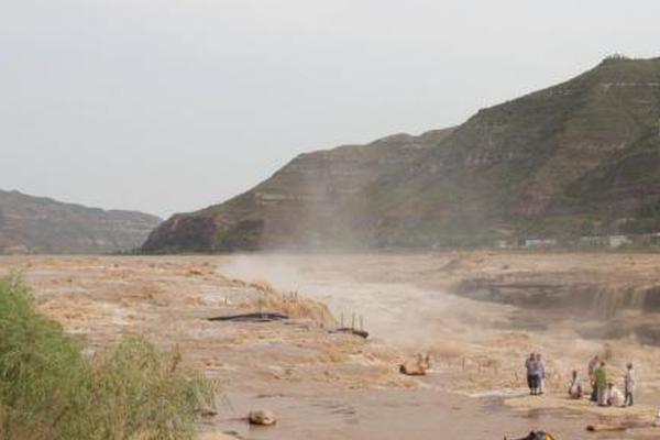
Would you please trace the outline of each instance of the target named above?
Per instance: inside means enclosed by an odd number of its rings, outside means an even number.
[[[581,337],[632,338],[660,345],[660,276],[654,254],[516,254],[458,256],[443,278],[455,295],[514,306],[514,324]]]

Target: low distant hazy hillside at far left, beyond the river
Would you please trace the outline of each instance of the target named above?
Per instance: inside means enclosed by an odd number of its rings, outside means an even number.
[[[0,190],[0,254],[110,253],[139,248],[161,219]]]

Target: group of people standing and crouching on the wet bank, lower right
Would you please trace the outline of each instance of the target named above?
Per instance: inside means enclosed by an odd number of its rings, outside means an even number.
[[[529,394],[538,396],[546,391],[546,364],[540,353],[530,353],[525,361],[525,369],[527,370],[527,385],[529,386]],[[626,365],[624,372],[624,392],[615,386],[609,380],[605,361],[601,360],[598,355],[595,355],[588,363],[587,366],[588,381],[592,387],[591,400],[597,403],[600,406],[632,406],[635,403],[635,388],[637,385],[637,378],[635,369],[631,363]],[[580,399],[584,395],[584,388],[578,371],[573,371],[571,374],[571,381],[569,382],[569,397]]]

